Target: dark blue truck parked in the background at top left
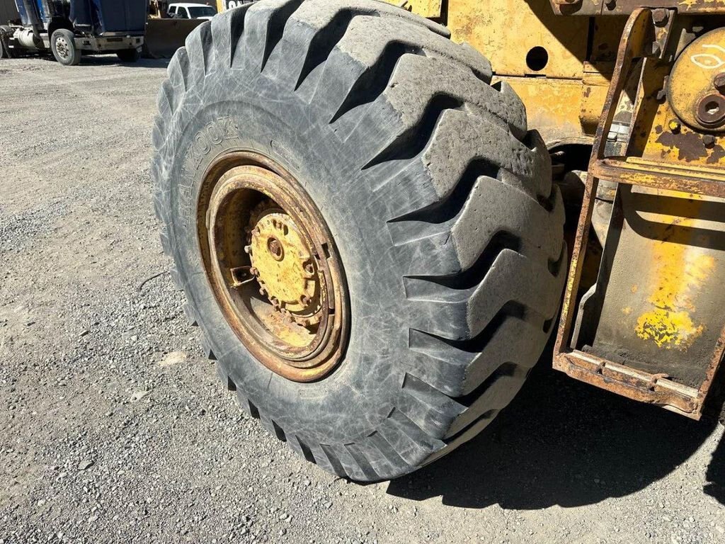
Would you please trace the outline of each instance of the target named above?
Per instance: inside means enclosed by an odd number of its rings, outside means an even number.
[[[0,27],[0,55],[51,51],[63,65],[83,53],[138,59],[148,0],[14,0],[20,24]]]

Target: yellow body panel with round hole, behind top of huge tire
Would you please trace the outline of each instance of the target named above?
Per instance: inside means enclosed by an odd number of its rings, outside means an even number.
[[[406,5],[432,18],[438,15],[428,14],[437,14],[439,8],[440,2],[426,0]],[[497,79],[515,88],[526,105],[529,125],[542,133],[547,145],[592,141],[624,24],[620,17],[596,29],[595,41],[600,40],[593,56],[610,63],[605,66],[609,73],[602,73],[587,62],[589,17],[556,15],[550,0],[450,0],[443,15],[452,39],[481,51]],[[528,62],[532,51],[541,48],[544,67]],[[597,76],[594,83],[592,73]]]

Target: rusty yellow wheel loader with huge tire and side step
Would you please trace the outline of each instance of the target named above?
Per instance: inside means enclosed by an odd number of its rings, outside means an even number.
[[[575,379],[709,409],[725,1],[220,11],[159,91],[154,206],[188,321],[271,433],[399,477],[481,432],[552,335]]]

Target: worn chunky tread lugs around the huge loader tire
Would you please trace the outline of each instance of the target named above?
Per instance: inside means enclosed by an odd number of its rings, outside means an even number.
[[[291,91],[316,74],[310,102],[337,100],[330,123],[346,141],[360,142],[367,153],[360,170],[384,180],[371,189],[390,202],[385,221],[410,262],[400,281],[418,316],[408,323],[415,363],[386,419],[354,442],[322,443],[260,413],[225,371],[224,358],[218,362],[220,379],[252,417],[307,461],[344,478],[397,477],[486,426],[536,362],[566,278],[563,205],[543,142],[527,130],[510,87],[489,86],[486,59],[445,37],[441,27],[388,4],[265,0],[194,30],[157,99],[154,209],[167,255],[176,249],[165,197],[169,161],[162,158],[174,152],[168,131],[216,70],[253,66]],[[281,73],[288,52],[296,68]],[[344,75],[341,62],[348,62]],[[387,141],[370,141],[365,130],[390,120],[376,118],[384,107],[396,112],[399,129]],[[510,217],[487,223],[478,207],[497,194],[513,202],[505,208]],[[414,255],[426,255],[428,265],[418,269]],[[196,323],[188,282],[173,276],[186,288],[184,313]],[[202,345],[214,359],[203,330]]]

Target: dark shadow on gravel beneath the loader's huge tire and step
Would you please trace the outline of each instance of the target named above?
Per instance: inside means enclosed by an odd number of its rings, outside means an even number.
[[[548,359],[550,360],[550,359]],[[716,427],[642,405],[550,368],[544,355],[514,402],[468,444],[391,482],[413,500],[536,509],[598,503],[642,490],[687,460]],[[725,503],[725,440],[705,491]]]

